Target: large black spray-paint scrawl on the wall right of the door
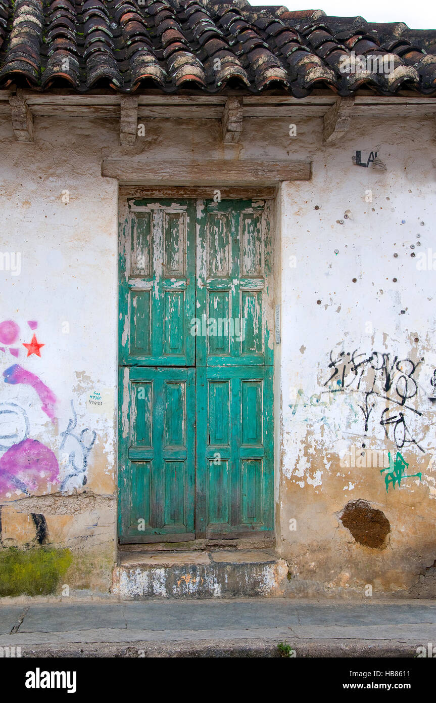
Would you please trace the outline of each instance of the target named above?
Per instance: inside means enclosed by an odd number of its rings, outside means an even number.
[[[371,413],[378,401],[388,403],[380,415],[380,425],[389,439],[390,430],[397,445],[402,449],[404,444],[416,444],[418,449],[425,451],[411,434],[406,418],[410,413],[413,416],[422,415],[416,408],[408,404],[418,392],[418,383],[413,378],[416,369],[423,361],[414,363],[411,359],[398,359],[398,356],[372,352],[369,356],[355,352],[341,352],[333,356],[330,352],[329,367],[331,376],[324,383],[324,387],[331,382],[336,383],[330,387],[329,392],[344,393],[354,392],[363,396],[359,408],[364,416],[364,431],[368,432],[368,423]]]

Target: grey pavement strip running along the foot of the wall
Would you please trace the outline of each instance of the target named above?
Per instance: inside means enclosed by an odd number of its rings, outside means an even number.
[[[436,600],[0,604],[0,647],[21,657],[279,657],[280,642],[296,657],[416,657],[436,646]]]

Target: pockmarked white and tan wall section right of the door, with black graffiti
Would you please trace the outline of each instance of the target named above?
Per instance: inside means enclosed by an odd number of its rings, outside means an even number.
[[[436,557],[433,145],[431,121],[352,120],[338,146],[315,138],[310,183],[283,186],[279,544],[296,593],[416,593]]]

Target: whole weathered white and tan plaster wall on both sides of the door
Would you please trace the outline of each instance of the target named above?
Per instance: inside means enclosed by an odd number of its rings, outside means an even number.
[[[121,154],[312,160],[312,181],[277,198],[276,518],[289,586],[414,593],[436,557],[436,271],[417,268],[418,253],[436,253],[432,121],[353,120],[329,148],[321,119],[293,120],[295,137],[289,122],[246,120],[242,143],[223,146],[218,121],[149,120],[123,150],[105,120],[37,118],[33,144],[0,122],[1,252],[21,254],[19,275],[0,271],[0,323],[17,325],[0,325],[2,538],[68,548],[71,588],[107,591],[116,560],[118,203],[100,164]],[[386,170],[355,165],[356,150],[378,150]],[[22,346],[32,335],[41,356]],[[389,452],[395,473],[368,466],[368,449]],[[342,521],[350,501],[366,503]]]

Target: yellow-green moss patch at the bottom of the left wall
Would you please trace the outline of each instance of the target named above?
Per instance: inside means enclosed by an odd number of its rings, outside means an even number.
[[[0,551],[0,596],[54,593],[72,562],[69,549]]]

